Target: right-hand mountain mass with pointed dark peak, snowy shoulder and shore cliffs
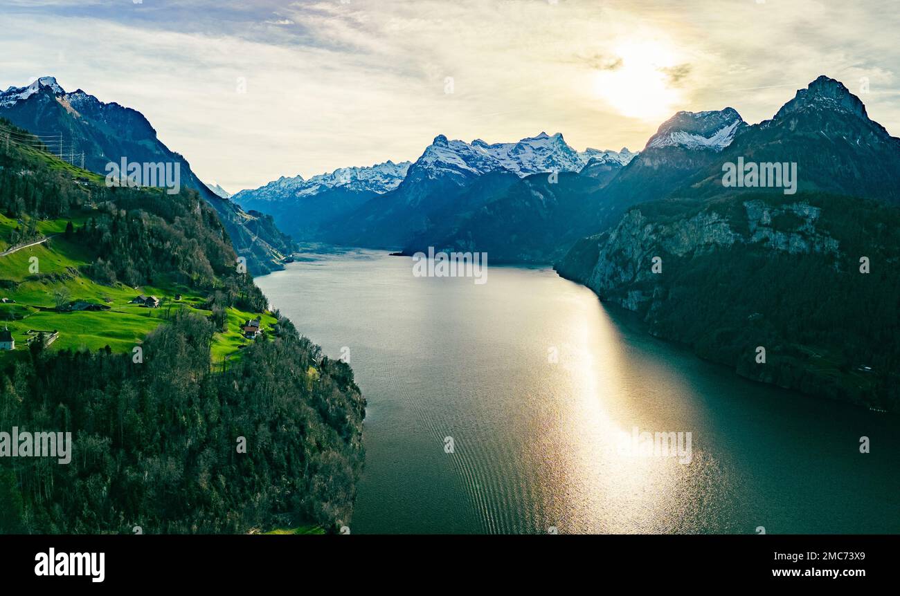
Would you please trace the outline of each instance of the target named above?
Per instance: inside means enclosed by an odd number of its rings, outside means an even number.
[[[760,124],[718,113],[664,124],[606,191],[664,179],[556,270],[744,377],[900,411],[900,139],[824,76]],[[797,193],[725,187],[739,159],[796,163]]]

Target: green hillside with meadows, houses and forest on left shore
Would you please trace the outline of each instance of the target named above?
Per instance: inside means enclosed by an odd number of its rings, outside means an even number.
[[[266,312],[196,191],[100,180],[0,144],[0,318],[17,342],[0,351],[0,431],[73,444],[67,464],[0,458],[0,532],[348,523],[364,458],[353,371]],[[162,307],[130,304],[150,290]],[[239,329],[251,316],[255,340]],[[48,325],[56,342],[26,342]]]

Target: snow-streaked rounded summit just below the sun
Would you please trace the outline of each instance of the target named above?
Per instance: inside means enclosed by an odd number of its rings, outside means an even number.
[[[722,151],[747,123],[734,108],[721,111],[680,111],[666,120],[647,141],[647,148],[683,147]]]

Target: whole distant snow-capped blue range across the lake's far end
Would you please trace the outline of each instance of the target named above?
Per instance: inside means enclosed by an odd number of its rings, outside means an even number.
[[[583,174],[583,180],[565,182],[572,192],[561,193],[564,200],[577,200],[572,193],[598,190],[635,155],[627,148],[579,152],[559,133],[493,144],[438,135],[411,164],[341,168],[310,180],[283,177],[256,190],[240,191],[233,200],[246,209],[272,214],[279,227],[297,240],[402,248],[452,242],[446,236],[470,225],[480,209],[504,199],[504,192],[512,193],[506,200],[516,209],[521,203],[513,195],[529,192],[541,180],[555,184],[568,179],[568,174]],[[561,217],[563,212],[570,210],[560,209]],[[510,251],[502,258],[531,258],[519,253]],[[543,250],[538,253],[545,256]]]

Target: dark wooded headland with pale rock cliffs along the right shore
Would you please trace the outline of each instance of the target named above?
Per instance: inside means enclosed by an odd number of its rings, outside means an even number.
[[[743,376],[897,410],[897,218],[825,195],[645,203],[556,269]]]

